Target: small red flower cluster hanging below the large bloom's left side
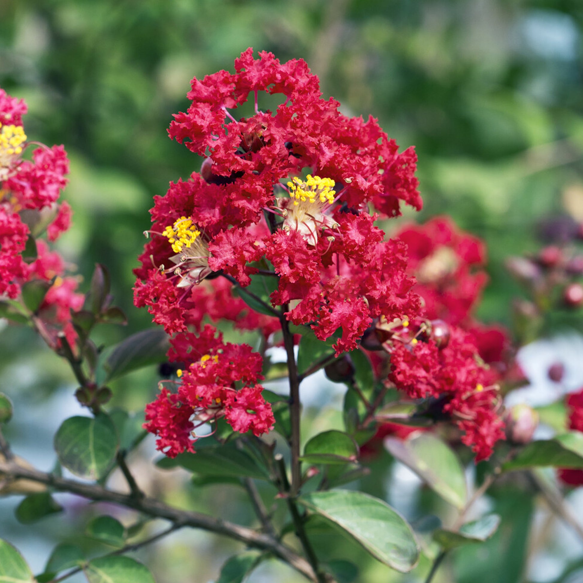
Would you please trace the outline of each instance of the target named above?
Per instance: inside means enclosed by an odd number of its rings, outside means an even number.
[[[180,371],[182,383],[173,394],[163,388],[146,406],[144,427],[158,437],[157,448],[171,458],[184,451],[194,453],[196,429],[223,417],[235,431],[259,436],[273,428],[271,405],[257,384],[262,360],[250,346],[224,343],[222,335],[206,325],[199,336],[180,333],[171,340],[170,357],[191,363]],[[243,388],[236,388],[236,382]]]

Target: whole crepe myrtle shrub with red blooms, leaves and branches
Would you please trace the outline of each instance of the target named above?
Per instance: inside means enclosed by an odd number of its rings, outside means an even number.
[[[279,105],[264,111],[262,102],[273,103],[273,96]],[[71,366],[75,396],[91,416],[65,420],[55,449],[62,467],[93,482],[31,468],[0,433],[0,487],[29,494],[23,504],[36,518],[55,511],[50,493],[38,490],[44,484],[171,522],[167,531],[128,543],[129,530],[117,519],[98,517],[100,527],[89,531],[110,542],[118,536],[120,549],[89,558],[75,551],[73,562],[55,559],[62,549],[55,550],[37,581],[80,570],[90,583],[151,581],[145,566],[120,554],[185,526],[262,553],[236,559],[238,578],[229,580],[242,581],[263,556],[311,581],[354,580],[352,567],[334,564],[329,549],[318,547],[311,531],[318,516],[406,573],[419,560],[418,533],[359,483],[338,488],[365,476],[367,461],[386,450],[458,511],[451,528],[435,529],[425,545],[417,569],[429,582],[451,549],[494,536],[500,517],[468,523],[466,514],[501,473],[554,466],[564,483],[583,483],[581,393],[567,397],[568,428],[551,440],[532,441],[532,409],[504,408],[521,379],[518,346],[503,326],[476,317],[487,283],[482,241],[448,217],[400,224],[392,237],[382,228],[403,205],[422,208],[412,147],[399,152],[372,117],[341,114],[337,101],[322,98],[304,61],[281,64],[267,52],[254,58],[251,48],[236,59],[234,73],[193,79],[188,99],[191,106],[174,116],[168,133],[201,157],[201,168],[154,198],[135,269],[135,305],[162,329],[103,352],[92,338],[95,326],[125,323],[111,305],[107,269],[97,265],[87,293],[78,293],[78,278],[65,275],[64,259],[40,238],[52,243],[71,221],[71,208],[58,200],[68,173],[65,150],[39,146],[26,157],[26,106],[0,90],[2,315],[34,326]],[[249,117],[240,114],[244,107]],[[563,303],[576,308],[573,261],[549,249],[538,265],[515,258],[511,271],[537,293],[567,280]],[[229,341],[233,330],[254,333],[255,344]],[[277,349],[286,354],[285,370],[272,361]],[[107,383],[160,358],[163,380],[145,405],[145,431],[136,430],[127,413],[108,406]],[[346,387],[343,423],[306,441],[300,384],[321,370]],[[271,390],[278,376],[289,392]],[[0,423],[11,416],[0,394]],[[146,496],[126,461],[146,432],[164,454],[161,468],[243,486],[259,527]],[[488,461],[472,497],[461,459]],[[114,469],[127,494],[107,486]],[[267,510],[256,480],[271,484],[270,504],[282,512]],[[283,540],[290,529],[296,542]],[[0,540],[2,556],[12,566],[0,565],[0,581],[33,580],[22,557]]]

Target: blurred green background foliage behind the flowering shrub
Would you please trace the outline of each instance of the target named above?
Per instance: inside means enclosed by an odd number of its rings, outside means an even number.
[[[82,291],[94,264],[107,265],[115,303],[129,319],[128,329],[103,326],[103,342],[150,325],[131,291],[147,211],[169,181],[200,168],[201,159],[168,139],[171,116],[188,107],[193,76],[232,70],[249,46],[282,61],[304,58],[343,113],[371,114],[403,149],[416,146],[424,209],[415,220],[451,215],[484,238],[490,286],[479,316],[508,323],[519,287],[504,259],[536,251],[541,236],[583,221],[582,25],[581,0],[1,0],[0,87],[26,99],[29,139],[62,143],[69,153],[64,198],[74,224],[58,247],[85,278]],[[71,374],[26,330],[5,329],[0,355],[0,389],[16,405],[9,436],[17,452],[50,469],[51,436],[76,412]],[[139,411],[156,391],[156,371],[113,388],[118,403]],[[384,463],[383,479],[396,481],[367,491],[412,520],[426,514],[431,494],[382,456],[375,463]],[[405,500],[403,491],[413,494]],[[216,512],[204,490],[188,496],[182,503]],[[38,573],[57,535],[50,526],[36,529],[33,544],[30,529],[13,518],[17,502],[0,500],[0,537],[22,542]],[[532,521],[546,518],[520,496],[490,503],[505,504],[515,521],[512,544],[497,539],[498,550],[459,552],[436,581],[513,583],[521,573],[525,581],[583,581],[569,570],[580,560],[580,543],[554,523],[529,538]],[[59,520],[62,540],[73,526]],[[234,550],[204,533],[175,535],[157,548],[147,556],[159,583],[211,581]],[[367,569],[361,581],[413,582],[428,564],[412,575],[374,561]],[[264,571],[252,580],[273,580],[269,566]],[[278,580],[298,580],[278,573]]]

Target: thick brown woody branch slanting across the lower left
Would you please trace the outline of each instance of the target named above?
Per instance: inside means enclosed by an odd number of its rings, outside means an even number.
[[[192,528],[201,528],[205,531],[215,532],[219,535],[228,536],[229,538],[239,540],[250,547],[268,551],[279,559],[288,563],[296,571],[303,574],[308,580],[318,583],[318,577],[314,570],[303,557],[294,553],[293,550],[275,540],[272,536],[265,535],[254,531],[246,526],[240,526],[231,522],[223,521],[217,518],[210,517],[201,512],[193,512],[188,510],[178,510],[155,500],[154,498],[136,499],[131,494],[122,494],[114,490],[108,490],[101,486],[94,484],[86,484],[78,482],[78,480],[69,480],[54,476],[49,473],[40,472],[36,469],[27,469],[17,465],[15,462],[0,461],[0,476],[8,476],[13,478],[24,478],[47,484],[55,490],[63,492],[71,492],[89,500],[109,502],[132,508],[143,514],[147,514],[157,518],[165,518],[180,526],[191,526]]]

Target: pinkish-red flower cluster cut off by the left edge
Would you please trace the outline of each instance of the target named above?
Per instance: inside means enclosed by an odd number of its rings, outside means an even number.
[[[23,100],[0,89],[0,297],[19,297],[27,282],[51,282],[38,314],[55,342],[61,328],[72,342],[76,334],[70,310],[82,307],[83,296],[75,293],[76,279],[62,278],[62,258],[36,239],[46,230],[48,240],[55,241],[71,224],[71,207],[57,203],[67,182],[69,162],[63,146],[38,147],[32,160],[23,160],[27,138],[22,116],[26,109]],[[25,258],[27,241],[30,252]]]

